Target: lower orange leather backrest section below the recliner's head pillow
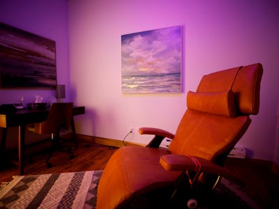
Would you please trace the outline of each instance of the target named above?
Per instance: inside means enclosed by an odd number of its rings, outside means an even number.
[[[188,109],[169,145],[169,151],[214,161],[239,141],[248,125],[248,116],[229,118]]]

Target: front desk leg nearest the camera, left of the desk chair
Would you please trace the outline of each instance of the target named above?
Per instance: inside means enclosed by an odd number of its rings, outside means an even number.
[[[18,161],[20,166],[20,175],[24,173],[24,144],[25,144],[25,125],[18,127]]]

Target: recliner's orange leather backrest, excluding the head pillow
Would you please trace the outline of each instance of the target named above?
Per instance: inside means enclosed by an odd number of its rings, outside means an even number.
[[[251,120],[247,114],[257,114],[259,111],[261,78],[262,65],[259,63],[204,75],[197,92],[216,93],[232,89],[239,115],[228,118],[188,109],[169,145],[169,151],[212,161],[228,152],[250,125]],[[224,108],[226,105],[224,102]]]

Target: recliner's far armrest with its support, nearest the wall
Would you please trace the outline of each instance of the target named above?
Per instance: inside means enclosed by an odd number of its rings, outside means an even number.
[[[155,127],[140,127],[139,133],[155,135],[146,147],[158,148],[165,137],[174,139],[174,134]]]

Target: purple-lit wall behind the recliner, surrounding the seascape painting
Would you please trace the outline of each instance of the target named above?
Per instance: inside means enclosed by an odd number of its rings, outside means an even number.
[[[68,1],[70,83],[86,106],[79,132],[123,139],[130,127],[175,132],[186,93],[202,75],[239,65],[264,65],[260,112],[239,145],[249,157],[273,160],[278,104],[277,1],[103,0]],[[121,35],[183,26],[182,94],[123,95]],[[78,69],[78,71],[77,71]],[[146,143],[135,132],[126,140]]]

